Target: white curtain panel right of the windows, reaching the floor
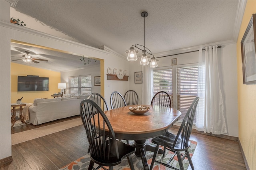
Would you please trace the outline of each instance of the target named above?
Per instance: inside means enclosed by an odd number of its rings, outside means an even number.
[[[217,46],[199,49],[198,96],[200,97],[196,113],[196,129],[207,133],[227,133],[224,117],[224,103],[220,89]],[[200,109],[199,109],[200,108]]]

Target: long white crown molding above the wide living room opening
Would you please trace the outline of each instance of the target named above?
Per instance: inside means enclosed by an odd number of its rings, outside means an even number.
[[[26,28],[24,26],[19,26],[17,24],[12,24],[12,23],[6,22],[4,20],[0,20],[0,26],[6,27],[6,28],[9,28],[9,29],[12,29],[12,30],[24,32],[24,33],[27,33],[27,34],[41,36],[41,37],[44,37],[44,38],[48,38],[50,40],[55,40],[55,41],[62,42],[62,43],[68,43],[70,45],[74,45],[74,46],[77,46],[77,47],[88,49],[90,51],[96,51],[98,53],[103,53],[103,54],[109,55],[108,51],[104,51],[102,49],[91,47],[89,45],[85,45],[85,44],[82,44],[82,43],[74,42],[74,41],[71,41],[71,40],[66,40],[64,38],[59,38],[59,37],[56,37],[56,36],[52,36],[50,34],[39,32],[39,31],[36,31],[36,30],[32,30],[30,28]]]

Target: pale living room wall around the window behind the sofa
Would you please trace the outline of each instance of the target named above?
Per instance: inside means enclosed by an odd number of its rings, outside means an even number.
[[[94,77],[100,76],[100,65],[92,65],[92,66],[87,66],[86,68],[60,72],[61,82],[67,84],[66,94],[69,93],[68,77],[78,76],[78,75],[91,75],[92,76],[92,93],[100,93],[100,86],[94,86]]]

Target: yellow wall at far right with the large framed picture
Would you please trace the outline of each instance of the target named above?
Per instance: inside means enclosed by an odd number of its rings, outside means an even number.
[[[248,0],[236,43],[238,73],[238,136],[248,166],[251,170],[256,170],[256,85],[243,84],[240,42],[244,36],[244,32],[252,14],[255,13],[256,0]]]

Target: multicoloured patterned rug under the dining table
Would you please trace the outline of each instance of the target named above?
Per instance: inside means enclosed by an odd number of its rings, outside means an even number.
[[[150,144],[154,145],[151,142],[151,140],[148,140],[148,142]],[[194,154],[197,142],[190,140],[190,143],[191,143],[191,146],[189,148],[189,153],[190,153],[190,156],[192,157],[192,155]],[[163,149],[163,147],[161,147],[161,148]],[[166,150],[166,152],[167,152],[167,150]],[[162,158],[162,154],[157,154],[156,160],[160,160],[161,162],[168,162],[173,154],[174,154],[173,152],[169,151],[168,153],[166,153],[166,156],[164,158]],[[153,155],[154,155],[154,152],[146,152],[146,157],[147,157],[149,167],[152,162]],[[132,154],[132,161],[133,161],[135,170],[143,170],[143,164],[142,164],[140,157],[136,156],[135,154]],[[82,156],[81,158],[60,168],[59,170],[88,170],[89,163],[90,163],[90,155],[86,154],[85,156]],[[95,165],[95,167],[97,166],[96,164],[94,164],[94,165]],[[172,160],[170,165],[180,169],[177,156],[174,157],[174,159]],[[184,166],[184,170],[188,169],[189,162],[188,162],[187,158],[184,159],[183,166]],[[108,167],[106,167],[106,168],[108,168]],[[100,168],[100,170],[103,170],[103,169]],[[129,166],[127,158],[123,159],[121,164],[114,166],[114,170],[130,170],[130,166]],[[167,168],[167,167],[155,162],[153,170],[170,170],[170,168]]]

